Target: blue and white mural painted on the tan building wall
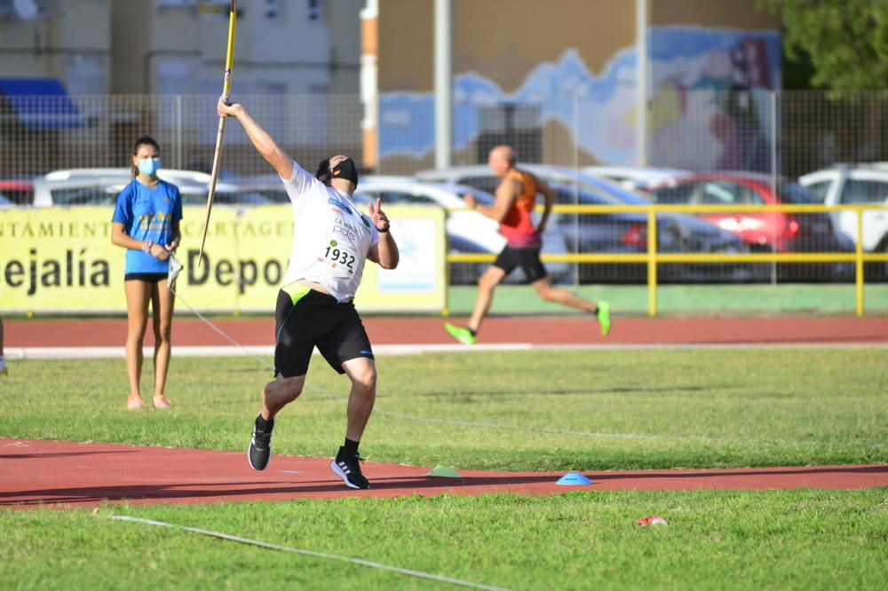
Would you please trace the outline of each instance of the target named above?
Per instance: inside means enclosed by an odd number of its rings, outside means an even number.
[[[558,136],[563,146],[552,147],[542,138],[550,146],[543,154],[546,162],[573,162],[575,147],[581,162],[636,162],[637,57],[634,47],[616,51],[600,73],[593,73],[578,51],[567,49],[557,62],[528,72],[514,91],[503,91],[480,72],[456,75],[455,153],[472,154],[480,137],[505,127],[544,136],[554,133],[554,124],[567,135]],[[760,104],[766,96],[755,91],[779,86],[780,36],[658,27],[650,33],[650,57],[651,163],[692,169],[740,163],[738,154],[768,129]],[[432,93],[387,92],[379,100],[383,169],[391,159],[427,161],[434,146]]]

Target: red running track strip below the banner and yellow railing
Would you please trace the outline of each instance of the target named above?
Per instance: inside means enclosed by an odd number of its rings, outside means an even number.
[[[273,345],[273,319],[216,321],[244,345]],[[126,340],[124,319],[7,320],[7,347],[113,347]],[[374,344],[453,343],[444,320],[370,317],[364,324]],[[153,337],[148,330],[146,344]],[[201,319],[173,322],[174,345],[227,345]],[[605,338],[588,317],[511,317],[488,319],[479,343],[532,344],[755,344],[888,343],[888,318],[617,318]]]

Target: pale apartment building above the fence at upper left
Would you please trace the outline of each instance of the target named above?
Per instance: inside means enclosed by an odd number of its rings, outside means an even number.
[[[0,0],[0,77],[74,95],[222,87],[228,0]],[[362,0],[250,0],[238,8],[243,94],[358,92]]]

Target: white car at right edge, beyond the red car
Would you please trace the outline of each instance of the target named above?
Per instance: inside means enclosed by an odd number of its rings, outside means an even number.
[[[888,165],[885,163],[837,166],[818,170],[798,182],[824,205],[888,205]],[[857,244],[857,214],[836,211],[833,223]],[[870,209],[863,212],[863,249],[888,253],[888,210]],[[868,272],[888,278],[888,263],[867,264]]]

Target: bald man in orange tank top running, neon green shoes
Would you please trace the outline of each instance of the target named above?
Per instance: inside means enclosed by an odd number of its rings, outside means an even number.
[[[543,232],[549,221],[555,193],[540,178],[516,167],[515,153],[509,146],[496,146],[490,151],[488,166],[497,177],[503,179],[496,187],[496,201],[492,206],[483,205],[475,200],[472,194],[465,195],[465,203],[480,214],[499,222],[500,233],[506,240],[503,252],[496,257],[494,264],[481,275],[478,280],[478,300],[469,319],[468,327],[456,327],[450,323],[444,325],[448,334],[460,343],[475,344],[481,322],[493,302],[496,286],[506,276],[520,267],[533,284],[536,293],[546,302],[560,303],[571,308],[595,314],[601,325],[601,334],[610,332],[610,304],[607,302],[591,303],[580,296],[575,296],[567,289],[552,286],[546,268],[540,260],[540,248],[543,246]],[[545,207],[539,224],[534,226],[531,214],[536,206],[536,193],[543,193]]]

